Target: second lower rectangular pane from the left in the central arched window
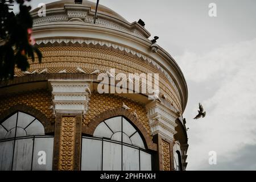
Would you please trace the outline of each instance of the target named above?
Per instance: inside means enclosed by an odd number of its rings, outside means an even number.
[[[121,144],[103,142],[103,170],[121,171]]]

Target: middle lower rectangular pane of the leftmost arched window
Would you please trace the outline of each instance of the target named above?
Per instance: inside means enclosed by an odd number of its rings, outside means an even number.
[[[31,170],[33,139],[18,139],[15,141],[14,171]]]

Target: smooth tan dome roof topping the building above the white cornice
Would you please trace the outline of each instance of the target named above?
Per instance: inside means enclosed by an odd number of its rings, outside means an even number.
[[[75,4],[75,0],[61,0],[61,1],[56,1],[56,2],[52,2],[52,3],[48,3],[48,4],[46,4],[46,9],[53,9],[53,8],[58,8],[58,7],[64,7],[65,4]],[[92,10],[96,10],[96,3],[94,3],[94,2],[83,0],[82,1],[82,5],[88,6]],[[37,9],[39,9],[39,8],[37,8]],[[35,9],[33,11],[36,11],[37,9]],[[114,16],[117,19],[121,19],[121,20],[127,21],[125,18],[123,18],[121,15],[119,15],[118,13],[113,11],[112,9],[109,9],[108,7],[100,5],[100,4],[98,5],[97,12],[101,13],[101,14],[107,14],[107,15],[110,15],[110,16]]]

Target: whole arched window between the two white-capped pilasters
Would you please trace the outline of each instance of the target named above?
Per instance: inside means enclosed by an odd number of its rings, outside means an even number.
[[[82,137],[82,170],[151,170],[151,154],[138,130],[124,117],[102,121],[93,137]]]

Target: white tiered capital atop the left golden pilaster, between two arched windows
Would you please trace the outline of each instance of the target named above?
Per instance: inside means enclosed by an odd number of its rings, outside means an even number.
[[[88,110],[89,93],[86,87],[91,82],[80,80],[49,80],[52,87],[53,105],[55,111],[81,111]]]

